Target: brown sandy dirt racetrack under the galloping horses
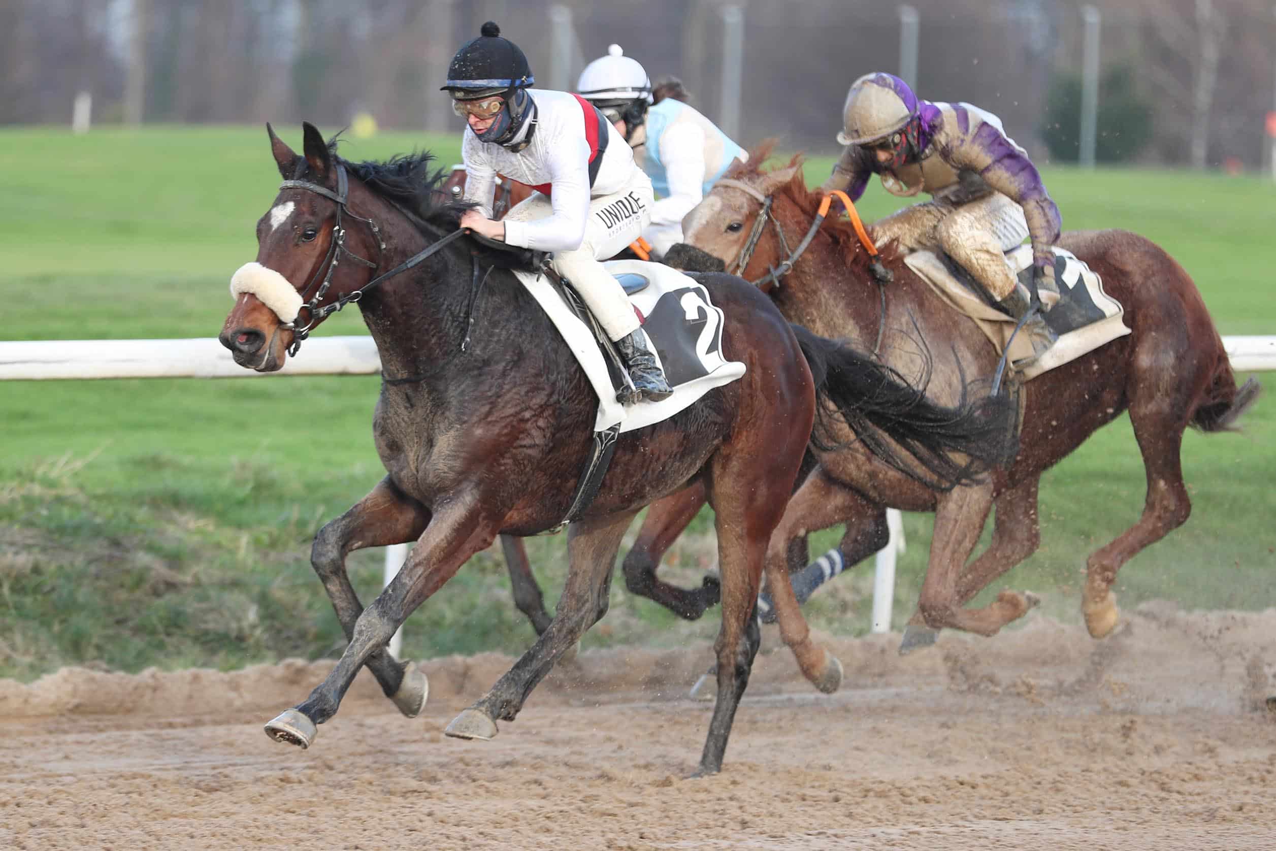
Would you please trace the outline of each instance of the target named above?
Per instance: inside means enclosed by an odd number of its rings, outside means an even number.
[[[262,723],[328,662],[0,681],[0,847],[1276,848],[1276,610],[829,639],[832,697],[764,635],[703,780],[707,647],[582,653],[491,743],[443,727],[498,656],[426,662],[416,720],[361,674],[308,751]]]

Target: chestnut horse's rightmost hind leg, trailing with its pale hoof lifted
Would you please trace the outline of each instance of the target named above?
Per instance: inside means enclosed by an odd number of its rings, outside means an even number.
[[[1174,413],[1182,410],[1182,399],[1165,397],[1131,403],[1129,418],[1147,472],[1147,496],[1138,522],[1086,563],[1081,611],[1086,616],[1086,629],[1095,638],[1111,633],[1120,619],[1116,596],[1111,592],[1120,566],[1143,547],[1183,526],[1192,513],[1179,457],[1187,424]]]

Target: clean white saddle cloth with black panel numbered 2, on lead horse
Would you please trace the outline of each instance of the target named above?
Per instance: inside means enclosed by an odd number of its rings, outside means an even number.
[[[590,378],[598,396],[595,431],[619,424],[624,433],[660,422],[689,407],[715,387],[730,384],[744,375],[744,364],[726,360],[722,352],[722,311],[713,305],[703,286],[660,263],[611,260],[602,265],[624,285],[630,304],[643,318],[642,330],[647,334],[648,348],[674,388],[667,399],[625,406],[616,402],[619,388],[590,327],[545,276],[514,273],[549,314]]]

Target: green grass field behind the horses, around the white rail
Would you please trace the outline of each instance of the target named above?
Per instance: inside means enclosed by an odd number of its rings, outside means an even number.
[[[300,147],[297,128],[279,128]],[[459,139],[351,140],[382,158],[430,148],[448,166]],[[809,163],[822,180],[829,158]],[[1270,305],[1276,188],[1257,179],[1164,171],[1048,170],[1069,228],[1125,227],[1166,246],[1193,274],[1226,334],[1276,333]],[[4,339],[211,337],[227,279],[255,255],[253,226],[278,172],[259,128],[0,131]],[[878,186],[868,218],[900,205]],[[353,311],[319,333],[364,333]],[[304,353],[302,353],[304,357]],[[1276,389],[1265,378],[1266,389]],[[371,445],[374,376],[0,384],[0,675],[68,663],[237,667],[339,653],[341,630],[309,566],[309,541],[383,475]],[[1270,397],[1268,397],[1270,399]],[[1273,605],[1276,415],[1265,399],[1240,435],[1189,434],[1189,523],[1120,574],[1123,602]],[[1128,421],[1046,475],[1042,547],[999,587],[1046,592],[1072,616],[1085,555],[1132,523],[1143,477]],[[897,615],[916,598],[931,518],[906,515]],[[670,555],[669,577],[698,582],[712,563],[708,518]],[[837,531],[815,536],[814,551]],[[553,598],[561,538],[532,542]],[[361,593],[379,554],[356,554]],[[812,601],[819,626],[861,632],[870,570]],[[616,583],[611,614],[586,639],[674,643],[709,635]],[[532,632],[513,609],[495,551],[473,559],[413,615],[417,656],[519,652]]]

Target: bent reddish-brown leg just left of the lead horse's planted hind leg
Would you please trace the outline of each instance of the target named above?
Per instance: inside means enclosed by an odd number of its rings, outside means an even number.
[[[704,484],[697,482],[652,503],[623,566],[629,593],[653,600],[686,620],[698,620],[706,609],[717,603],[718,581],[706,577],[699,588],[685,591],[661,582],[656,577],[656,568],[678,536],[695,519],[706,499]]]

